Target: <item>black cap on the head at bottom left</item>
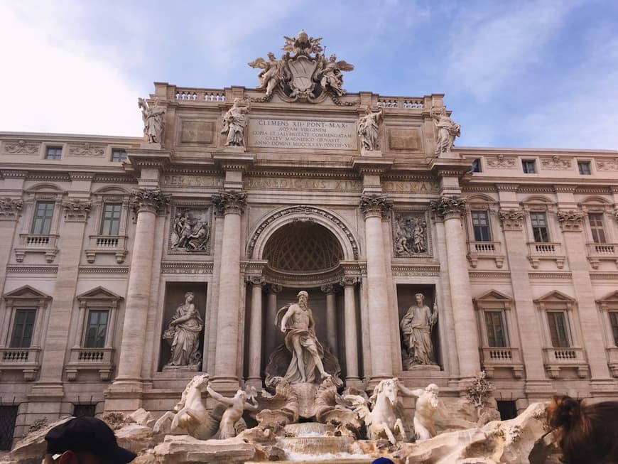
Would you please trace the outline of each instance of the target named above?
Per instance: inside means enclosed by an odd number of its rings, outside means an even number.
[[[114,431],[96,417],[75,417],[52,428],[47,435],[47,452],[92,453],[110,464],[126,464],[136,454],[118,446]]]

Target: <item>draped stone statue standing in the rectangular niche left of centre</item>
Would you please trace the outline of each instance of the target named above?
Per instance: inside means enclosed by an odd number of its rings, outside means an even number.
[[[200,334],[204,328],[202,316],[195,308],[195,295],[185,293],[185,303],[178,306],[166,331],[163,340],[171,345],[170,361],[166,368],[185,367],[199,369],[201,362]]]

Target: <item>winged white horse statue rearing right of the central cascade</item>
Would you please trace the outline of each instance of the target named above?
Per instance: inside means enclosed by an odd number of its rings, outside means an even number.
[[[397,397],[398,392],[399,380],[393,378],[381,380],[369,400],[359,395],[344,396],[364,421],[369,440],[387,438],[395,444],[399,437],[399,441],[406,441],[406,431],[401,421],[403,407]]]

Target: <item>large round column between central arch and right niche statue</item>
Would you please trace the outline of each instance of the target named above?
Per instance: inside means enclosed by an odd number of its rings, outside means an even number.
[[[386,291],[382,217],[391,209],[385,195],[364,195],[360,208],[365,217],[367,248],[367,296],[369,297],[369,343],[372,381],[393,377],[393,342],[389,324],[389,294]]]

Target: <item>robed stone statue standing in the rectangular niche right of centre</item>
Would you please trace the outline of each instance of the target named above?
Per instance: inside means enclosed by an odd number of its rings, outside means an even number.
[[[410,306],[401,319],[403,344],[406,345],[409,365],[435,365],[431,330],[438,322],[438,305],[433,303],[433,311],[423,304],[425,296],[416,293],[416,305]]]

